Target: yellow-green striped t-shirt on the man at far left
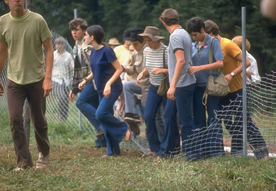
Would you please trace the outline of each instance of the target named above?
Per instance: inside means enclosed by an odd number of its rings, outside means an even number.
[[[52,37],[43,17],[28,12],[22,17],[0,17],[0,41],[8,44],[8,79],[18,84],[37,82],[45,76],[42,42]]]

